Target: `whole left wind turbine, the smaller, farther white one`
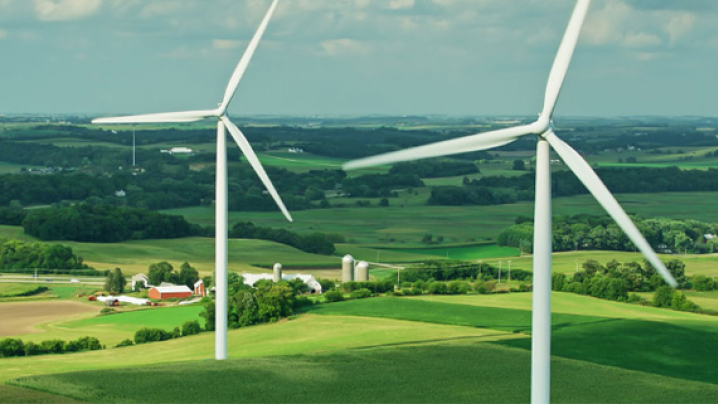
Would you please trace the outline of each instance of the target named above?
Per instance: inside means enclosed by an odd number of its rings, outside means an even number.
[[[239,82],[242,80],[249,61],[257,49],[259,40],[267,28],[278,0],[272,1],[267,14],[259,25],[257,32],[247,46],[247,50],[239,60],[224,92],[224,98],[219,107],[211,110],[166,112],[159,114],[134,115],[114,118],[99,118],[92,121],[96,124],[105,123],[161,123],[161,122],[196,122],[203,119],[217,119],[217,172],[215,183],[215,358],[217,360],[227,359],[227,135],[225,128],[242,150],[249,164],[259,176],[269,194],[274,198],[284,216],[292,221],[292,217],[279,197],[277,190],[270,181],[257,155],[252,150],[247,138],[242,131],[232,123],[227,116],[227,107],[234,97]]]

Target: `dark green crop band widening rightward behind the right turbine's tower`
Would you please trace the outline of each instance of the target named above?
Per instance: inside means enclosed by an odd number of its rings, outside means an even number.
[[[531,312],[403,298],[318,305],[314,314],[384,317],[530,333]],[[626,320],[554,313],[554,356],[718,384],[718,324]],[[706,325],[707,324],[707,325]],[[715,332],[712,331],[715,330]],[[491,342],[530,350],[530,338]]]

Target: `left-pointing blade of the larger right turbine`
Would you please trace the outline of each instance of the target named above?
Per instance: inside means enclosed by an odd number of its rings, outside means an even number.
[[[511,143],[517,138],[534,133],[530,125],[515,126],[512,128],[499,129],[490,132],[477,133],[458,139],[445,140],[443,142],[430,143],[410,149],[380,154],[378,156],[366,157],[347,162],[342,167],[344,170],[356,170],[358,168],[393,164],[401,161],[419,160],[429,157],[448,156],[451,154],[466,153],[477,150],[491,149]]]

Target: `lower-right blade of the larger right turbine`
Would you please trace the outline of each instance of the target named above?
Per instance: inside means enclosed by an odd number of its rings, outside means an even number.
[[[578,154],[578,152],[571,146],[559,139],[553,131],[549,130],[546,132],[545,138],[548,140],[551,147],[556,150],[556,153],[561,156],[561,159],[563,159],[571,171],[576,174],[583,185],[585,185],[591,194],[593,194],[593,197],[596,198],[598,203],[603,206],[606,212],[608,212],[613,220],[616,221],[618,226],[623,229],[628,238],[633,241],[633,244],[641,250],[641,253],[643,253],[651,265],[656,268],[663,279],[665,279],[669,285],[676,287],[677,283],[673,278],[673,275],[668,272],[668,269],[666,269],[663,262],[661,262],[660,258],[658,258],[658,255],[656,255],[655,251],[653,251],[653,248],[651,248],[650,244],[648,244],[648,241],[646,241],[638,228],[636,228],[636,225],[633,224],[633,221],[631,221],[626,212],[623,211],[621,205],[619,205],[618,201],[616,201],[616,198],[613,197],[613,194],[611,194],[608,188],[606,188],[603,181],[598,178],[598,175],[596,175],[596,172],[593,171],[586,160],[584,160],[583,157],[581,157],[581,155]]]

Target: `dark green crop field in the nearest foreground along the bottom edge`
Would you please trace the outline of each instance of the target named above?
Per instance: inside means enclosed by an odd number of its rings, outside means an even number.
[[[523,403],[529,400],[528,363],[529,353],[517,349],[444,343],[77,372],[16,383],[107,403]],[[557,403],[708,403],[718,394],[712,384],[560,358],[552,373]]]

